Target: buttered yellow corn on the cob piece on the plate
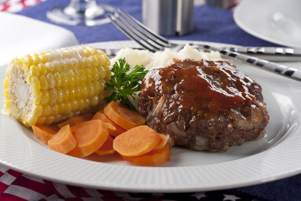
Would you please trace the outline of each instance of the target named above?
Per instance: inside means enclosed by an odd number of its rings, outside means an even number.
[[[15,58],[4,80],[4,113],[26,126],[52,124],[104,104],[110,60],[92,47],[65,48]]]

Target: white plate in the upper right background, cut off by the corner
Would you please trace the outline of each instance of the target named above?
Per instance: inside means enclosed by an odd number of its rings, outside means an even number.
[[[234,10],[236,24],[263,40],[301,48],[301,1],[245,0]]]

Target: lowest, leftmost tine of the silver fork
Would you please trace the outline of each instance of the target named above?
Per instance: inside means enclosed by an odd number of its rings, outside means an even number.
[[[144,43],[141,42],[141,39],[139,36],[137,36],[134,32],[132,32],[131,30],[127,29],[124,27],[124,24],[120,23],[120,20],[117,19],[115,16],[113,16],[113,14],[108,14],[107,15],[108,18],[111,20],[111,22],[122,32],[124,33],[128,38],[136,41],[139,45],[141,45],[142,47],[144,47],[145,49],[151,51],[151,52],[156,52],[157,50],[159,50],[158,48],[154,47],[152,44],[149,44],[147,41],[143,40],[142,41]],[[116,22],[118,21],[119,24]],[[120,24],[122,24],[123,26],[121,26]],[[135,36],[135,37],[134,37]],[[146,43],[146,44],[145,44]]]

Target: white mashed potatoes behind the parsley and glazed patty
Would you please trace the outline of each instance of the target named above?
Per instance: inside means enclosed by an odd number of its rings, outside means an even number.
[[[170,49],[165,49],[160,52],[149,52],[148,50],[137,50],[131,48],[121,49],[117,55],[111,59],[111,65],[119,58],[125,58],[126,62],[134,67],[135,65],[143,65],[146,69],[160,68],[165,66],[168,60],[173,58],[178,59],[194,59],[194,60],[221,60],[219,52],[200,52],[186,44],[179,52],[173,52]]]

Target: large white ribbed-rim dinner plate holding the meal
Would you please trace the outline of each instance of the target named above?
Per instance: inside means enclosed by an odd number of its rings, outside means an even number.
[[[135,46],[131,41],[88,45],[100,49]],[[212,45],[222,47],[226,44]],[[233,146],[225,153],[173,147],[169,162],[157,167],[143,167],[130,165],[117,158],[91,155],[81,159],[52,151],[34,136],[31,129],[12,117],[0,115],[0,163],[52,181],[133,192],[226,189],[300,173],[301,82],[247,64],[231,62],[262,86],[270,122],[266,136],[258,141]],[[300,62],[286,64],[295,68],[301,66]],[[1,83],[6,67],[0,67]],[[1,95],[1,102],[3,99]]]

